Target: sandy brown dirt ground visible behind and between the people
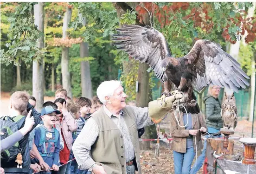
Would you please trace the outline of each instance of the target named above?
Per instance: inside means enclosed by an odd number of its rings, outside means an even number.
[[[1,111],[0,115],[8,115],[8,103],[9,103],[9,93],[1,92]],[[45,97],[44,101],[53,101],[54,98]],[[161,129],[164,129],[165,132],[170,136],[170,118],[166,118],[163,123],[161,123]],[[256,120],[254,122],[256,126]],[[254,128],[254,138],[256,138],[256,127]],[[231,137],[251,137],[252,133],[252,123],[247,120],[239,120],[238,125],[235,128],[235,134]],[[239,139],[234,139],[234,153],[242,154],[243,145],[239,143]],[[155,159],[155,142],[151,142],[151,149],[147,151],[140,152],[140,164],[142,165],[143,173],[151,174],[165,174],[165,173],[174,173],[174,161],[173,154],[170,150],[170,145],[161,141],[160,144],[160,156]],[[256,154],[255,154],[256,157]],[[255,158],[256,159],[256,158]],[[202,169],[200,172],[202,173]]]

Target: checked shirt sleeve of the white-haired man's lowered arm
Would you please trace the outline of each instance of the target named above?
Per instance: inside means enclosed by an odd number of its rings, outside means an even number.
[[[84,128],[82,128],[79,136],[75,139],[72,147],[80,170],[87,170],[89,167],[95,164],[89,152],[91,151],[91,147],[95,143],[98,136],[98,125],[93,118],[89,118],[86,121]]]

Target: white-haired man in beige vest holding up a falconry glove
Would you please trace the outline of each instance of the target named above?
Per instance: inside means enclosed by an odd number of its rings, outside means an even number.
[[[182,94],[162,96],[149,107],[126,106],[120,81],[111,80],[100,84],[97,95],[104,105],[90,115],[73,145],[79,169],[95,174],[142,173],[137,130],[161,121]]]

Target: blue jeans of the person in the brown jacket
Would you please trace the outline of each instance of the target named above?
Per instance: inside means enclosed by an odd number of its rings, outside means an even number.
[[[175,174],[189,174],[195,157],[194,147],[187,148],[186,153],[173,151]]]

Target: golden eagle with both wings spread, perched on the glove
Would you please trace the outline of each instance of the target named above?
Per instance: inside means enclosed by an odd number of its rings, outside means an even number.
[[[178,91],[183,92],[184,106],[192,114],[200,112],[194,87],[201,91],[213,83],[238,92],[238,88],[249,86],[246,80],[249,77],[240,64],[213,41],[198,40],[187,55],[175,58],[163,34],[152,27],[124,25],[117,31],[119,34],[112,35],[117,49],[147,63],[164,83],[165,94],[170,92],[170,81],[174,83]]]

